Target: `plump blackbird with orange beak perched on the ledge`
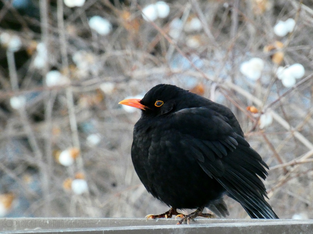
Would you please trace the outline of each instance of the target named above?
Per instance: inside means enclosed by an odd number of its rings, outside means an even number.
[[[177,224],[202,213],[229,215],[223,195],[238,201],[251,218],[278,219],[266,202],[268,169],[244,139],[228,107],[173,85],[160,84],[143,99],[120,104],[142,110],[135,124],[131,158],[149,193],[171,207],[148,218],[180,217]],[[196,209],[189,215],[177,209]]]

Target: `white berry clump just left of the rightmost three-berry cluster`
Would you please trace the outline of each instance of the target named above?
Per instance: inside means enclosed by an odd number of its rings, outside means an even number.
[[[249,61],[245,61],[240,65],[241,73],[254,81],[261,77],[263,68],[264,61],[260,58],[252,58]]]

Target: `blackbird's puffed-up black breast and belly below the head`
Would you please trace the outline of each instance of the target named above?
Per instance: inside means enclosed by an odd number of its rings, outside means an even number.
[[[224,190],[190,155],[189,146],[182,143],[185,137],[165,126],[135,127],[132,160],[141,182],[154,197],[177,208],[196,208],[218,198]]]

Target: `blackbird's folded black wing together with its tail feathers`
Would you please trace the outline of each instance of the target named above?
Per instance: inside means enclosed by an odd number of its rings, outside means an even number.
[[[175,112],[173,117],[171,127],[180,133],[180,145],[206,174],[222,184],[251,217],[277,218],[263,197],[266,189],[258,177],[266,178],[267,165],[225,115],[198,107]]]

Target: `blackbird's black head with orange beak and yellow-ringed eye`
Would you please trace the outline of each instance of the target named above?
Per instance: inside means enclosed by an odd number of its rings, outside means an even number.
[[[119,104],[139,108],[143,115],[159,116],[186,108],[186,94],[190,95],[187,90],[177,86],[160,84],[149,90],[142,99],[125,99]]]

